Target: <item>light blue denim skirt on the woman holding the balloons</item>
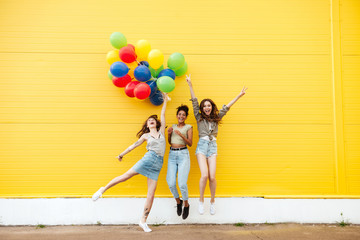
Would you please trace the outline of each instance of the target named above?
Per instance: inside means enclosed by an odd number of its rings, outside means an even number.
[[[154,151],[148,151],[132,169],[141,175],[157,181],[163,164],[163,157],[157,155]]]

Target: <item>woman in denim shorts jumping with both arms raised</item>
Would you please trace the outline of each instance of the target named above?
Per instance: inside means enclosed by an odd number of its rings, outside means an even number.
[[[221,119],[229,111],[230,107],[239,98],[244,96],[247,88],[243,87],[241,92],[227,105],[224,105],[220,111],[216,104],[209,98],[201,101],[200,106],[198,99],[195,97],[194,89],[192,87],[190,75],[186,76],[186,81],[190,88],[191,101],[194,109],[194,115],[197,122],[199,132],[199,141],[196,147],[196,157],[198,160],[201,177],[200,177],[200,199],[199,199],[199,213],[204,214],[204,192],[209,179],[209,186],[211,192],[210,200],[210,214],[215,214],[215,191],[216,191],[216,156],[217,143],[216,137],[218,133],[218,125]]]

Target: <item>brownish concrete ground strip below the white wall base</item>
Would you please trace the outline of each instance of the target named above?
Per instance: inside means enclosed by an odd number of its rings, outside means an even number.
[[[341,227],[338,224],[249,224],[235,225],[151,225],[151,233],[144,233],[136,225],[86,225],[86,226],[21,226],[0,227],[1,240],[208,240],[208,239],[360,239],[360,225]]]

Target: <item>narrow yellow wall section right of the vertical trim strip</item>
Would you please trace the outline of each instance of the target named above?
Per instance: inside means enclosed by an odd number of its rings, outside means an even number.
[[[360,193],[360,1],[340,1],[345,191]]]

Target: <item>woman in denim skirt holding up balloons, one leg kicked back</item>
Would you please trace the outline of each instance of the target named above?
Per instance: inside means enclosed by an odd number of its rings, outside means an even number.
[[[143,124],[141,130],[137,133],[139,140],[128,147],[122,152],[117,158],[121,161],[126,154],[140,146],[145,141],[147,142],[146,149],[148,150],[144,157],[140,159],[132,168],[121,176],[115,177],[105,187],[101,187],[94,195],[92,200],[98,200],[106,190],[115,186],[118,183],[125,182],[135,175],[141,174],[147,177],[148,193],[144,206],[144,213],[141,217],[139,226],[145,232],[151,232],[151,229],[146,224],[147,217],[150,213],[155,190],[157,186],[157,180],[159,177],[160,170],[163,164],[163,158],[165,154],[166,140],[165,140],[165,110],[167,105],[167,95],[163,94],[164,103],[161,110],[160,120],[157,115],[151,115]]]

